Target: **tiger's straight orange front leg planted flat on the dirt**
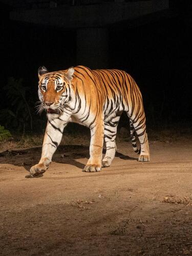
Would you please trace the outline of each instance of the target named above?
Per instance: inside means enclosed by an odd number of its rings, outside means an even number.
[[[98,122],[91,129],[90,158],[83,172],[99,172],[101,170],[104,122]]]

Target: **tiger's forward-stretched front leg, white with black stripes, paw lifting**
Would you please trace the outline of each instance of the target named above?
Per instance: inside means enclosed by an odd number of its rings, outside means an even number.
[[[26,176],[26,178],[37,177],[46,172],[51,164],[52,156],[61,141],[62,132],[66,125],[67,122],[59,119],[48,120],[40,161],[31,167],[30,175]]]

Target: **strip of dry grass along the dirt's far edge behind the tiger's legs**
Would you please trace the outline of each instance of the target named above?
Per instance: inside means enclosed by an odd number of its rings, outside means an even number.
[[[68,130],[63,133],[63,137],[61,140],[61,145],[63,144],[90,144],[90,130],[86,129],[82,126],[75,126],[70,130],[70,126]],[[122,141],[130,141],[130,132],[129,127],[127,127],[127,132],[125,132],[125,128],[118,130],[116,141],[117,143],[121,143]],[[73,131],[73,132],[71,132]],[[192,137],[192,130],[189,127],[188,129],[161,129],[156,130],[155,128],[147,129],[149,141],[161,141],[166,143],[172,143],[175,141],[187,141]],[[14,149],[23,149],[28,147],[41,146],[44,134],[12,134],[13,137],[7,140],[0,141],[0,152],[6,150]]]

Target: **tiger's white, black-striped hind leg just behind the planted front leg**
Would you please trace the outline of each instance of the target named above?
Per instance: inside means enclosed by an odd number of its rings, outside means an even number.
[[[117,125],[120,116],[116,116],[110,122],[104,123],[104,140],[106,143],[106,153],[102,160],[102,166],[108,167],[111,165],[116,152],[115,138],[117,134]]]

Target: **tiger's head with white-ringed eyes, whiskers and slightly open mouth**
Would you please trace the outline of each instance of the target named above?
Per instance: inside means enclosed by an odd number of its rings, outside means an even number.
[[[71,81],[74,68],[49,72],[44,66],[38,69],[38,112],[62,114],[63,105],[71,100]]]

